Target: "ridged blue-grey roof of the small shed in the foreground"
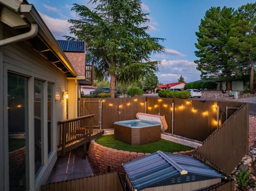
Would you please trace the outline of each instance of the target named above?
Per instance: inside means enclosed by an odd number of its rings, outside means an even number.
[[[189,181],[199,181],[212,178],[226,178],[219,172],[192,156],[178,155],[158,151],[139,159],[123,164],[134,189],[141,190],[159,185],[181,184],[182,176],[193,175]],[[181,177],[179,182],[172,178]]]

